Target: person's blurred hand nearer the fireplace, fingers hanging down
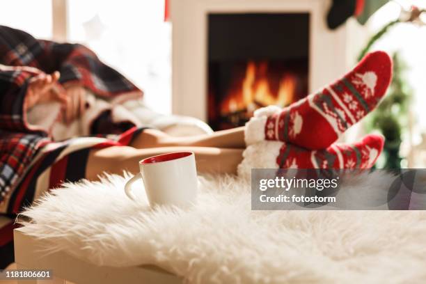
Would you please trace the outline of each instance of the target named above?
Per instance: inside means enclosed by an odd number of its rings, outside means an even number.
[[[82,116],[86,110],[86,89],[82,86],[71,85],[65,86],[65,92],[68,102],[64,105],[63,121],[68,124]]]

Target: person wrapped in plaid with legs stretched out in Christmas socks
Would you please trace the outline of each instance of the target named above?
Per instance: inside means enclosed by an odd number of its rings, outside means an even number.
[[[52,129],[84,116],[86,90],[109,102],[142,92],[82,45],[36,40],[0,26],[0,51],[0,214],[15,216],[65,181],[137,173],[139,160],[166,152],[194,152],[199,172],[236,174],[248,160],[258,168],[371,168],[383,149],[384,138],[376,134],[356,143],[336,140],[386,93],[392,62],[385,52],[368,54],[333,84],[288,107],[258,109],[244,127],[173,137],[100,113],[84,125],[88,135],[58,139]],[[49,102],[60,109],[54,119],[30,122],[34,109],[35,116],[50,114],[40,109]],[[255,147],[244,152],[249,145]]]

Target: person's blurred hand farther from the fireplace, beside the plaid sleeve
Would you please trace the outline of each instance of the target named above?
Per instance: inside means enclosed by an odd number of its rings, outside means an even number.
[[[28,88],[26,88],[26,95],[24,104],[26,109],[31,109],[40,102],[57,101],[62,105],[68,103],[67,95],[63,87],[58,84],[60,74],[58,71],[52,74],[45,72],[38,72],[36,77],[29,81]]]

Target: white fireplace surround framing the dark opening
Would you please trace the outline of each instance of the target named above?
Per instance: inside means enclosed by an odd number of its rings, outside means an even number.
[[[329,5],[324,0],[171,0],[173,113],[207,119],[209,13],[310,13],[310,92],[344,74],[363,43],[360,28],[349,21],[330,31]]]

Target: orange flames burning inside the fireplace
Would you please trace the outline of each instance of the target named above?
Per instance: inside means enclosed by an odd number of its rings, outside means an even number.
[[[239,83],[241,88],[230,91],[221,103],[221,113],[244,111],[252,113],[259,107],[276,104],[285,107],[294,100],[297,79],[293,74],[285,73],[279,79],[278,91],[271,90],[274,82],[267,76],[266,62],[248,61],[246,75]]]

